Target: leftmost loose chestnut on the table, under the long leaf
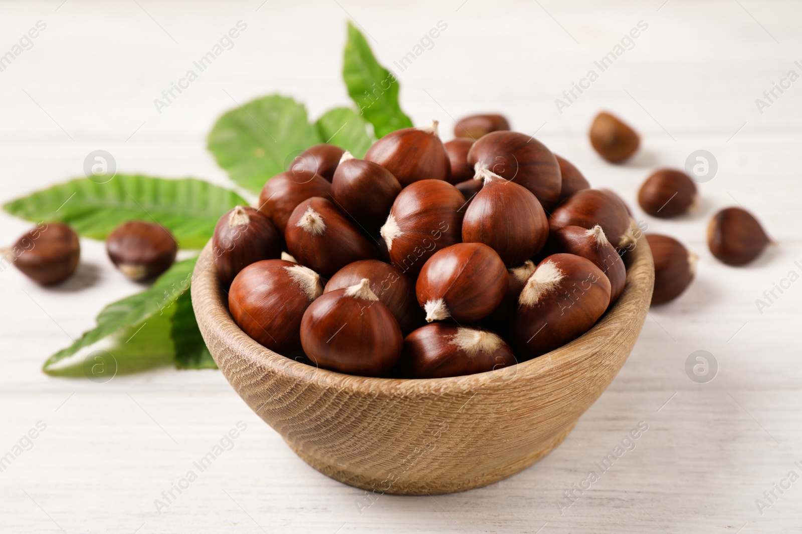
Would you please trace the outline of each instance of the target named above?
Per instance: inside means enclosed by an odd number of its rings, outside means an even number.
[[[28,278],[50,286],[75,272],[81,245],[78,234],[66,224],[39,224],[17,239],[5,256]]]

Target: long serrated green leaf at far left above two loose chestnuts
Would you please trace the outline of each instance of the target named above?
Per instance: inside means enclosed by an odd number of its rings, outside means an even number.
[[[201,248],[211,239],[217,219],[237,204],[247,202],[203,180],[115,175],[107,183],[74,179],[12,200],[3,208],[33,222],[67,223],[94,239],[106,239],[126,221],[156,221],[172,232],[180,247]]]

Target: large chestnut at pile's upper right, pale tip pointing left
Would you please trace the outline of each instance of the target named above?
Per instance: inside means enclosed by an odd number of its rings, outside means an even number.
[[[468,152],[476,179],[486,171],[526,187],[550,211],[560,199],[562,186],[557,158],[537,139],[514,131],[494,131],[485,135]]]

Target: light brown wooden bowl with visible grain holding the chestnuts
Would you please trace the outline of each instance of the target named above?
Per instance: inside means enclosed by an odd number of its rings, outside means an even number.
[[[654,284],[646,239],[626,291],[585,335],[527,362],[476,375],[379,379],[298,363],[229,315],[209,244],[192,305],[217,365],[290,448],[335,480],[375,492],[460,492],[514,475],[557,447],[630,354]]]

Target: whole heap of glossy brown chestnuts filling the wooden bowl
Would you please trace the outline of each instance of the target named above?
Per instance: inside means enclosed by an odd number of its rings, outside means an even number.
[[[334,371],[438,378],[593,327],[625,289],[629,208],[500,115],[455,135],[396,130],[364,159],[311,147],[223,215],[213,254],[242,330]]]

